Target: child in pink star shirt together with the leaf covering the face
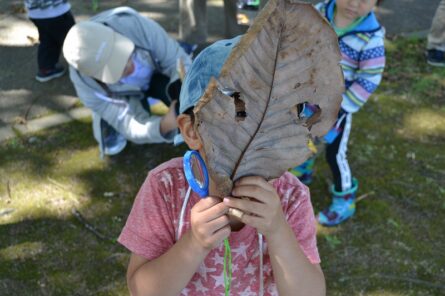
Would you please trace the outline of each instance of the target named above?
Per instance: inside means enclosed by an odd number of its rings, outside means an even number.
[[[256,20],[187,72],[175,142],[203,158],[209,194],[191,192],[182,158],[149,173],[119,237],[132,295],[325,295],[309,191],[287,169],[336,118],[337,39],[310,4],[270,0]],[[301,116],[306,102],[323,109],[317,122]]]

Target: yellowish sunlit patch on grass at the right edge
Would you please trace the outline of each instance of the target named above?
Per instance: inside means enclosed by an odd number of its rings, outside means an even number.
[[[445,137],[445,112],[420,109],[405,115],[403,125],[399,133],[408,137]]]

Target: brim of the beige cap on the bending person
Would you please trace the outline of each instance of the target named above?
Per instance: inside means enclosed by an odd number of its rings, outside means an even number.
[[[96,76],[104,83],[116,83],[124,73],[128,59],[134,50],[134,43],[127,37],[114,32],[112,51],[103,70]]]

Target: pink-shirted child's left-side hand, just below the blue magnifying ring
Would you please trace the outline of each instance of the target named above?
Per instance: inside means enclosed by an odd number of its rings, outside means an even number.
[[[191,211],[192,237],[209,251],[230,235],[228,207],[216,197],[206,197]]]

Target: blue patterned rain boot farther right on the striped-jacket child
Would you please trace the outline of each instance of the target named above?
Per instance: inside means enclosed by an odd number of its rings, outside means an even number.
[[[352,188],[344,192],[335,191],[334,185],[332,185],[332,204],[320,212],[317,217],[321,225],[337,226],[355,214],[355,193],[358,189],[358,181],[353,179],[352,183]]]

